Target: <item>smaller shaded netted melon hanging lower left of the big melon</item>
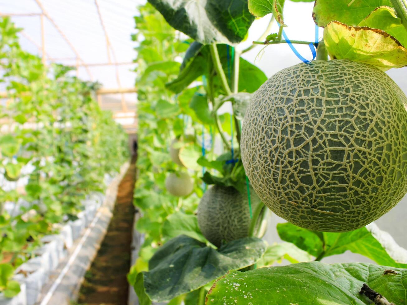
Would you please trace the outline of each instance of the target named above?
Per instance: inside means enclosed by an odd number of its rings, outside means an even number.
[[[253,211],[259,204],[263,205],[254,192],[250,199]],[[240,193],[234,187],[212,186],[199,202],[197,218],[202,234],[215,246],[248,237],[251,218],[247,192]],[[259,226],[256,229],[260,230],[254,232],[256,236],[264,235]]]

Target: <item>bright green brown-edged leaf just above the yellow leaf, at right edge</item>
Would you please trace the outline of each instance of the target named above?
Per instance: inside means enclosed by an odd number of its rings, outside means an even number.
[[[358,26],[367,26],[369,28],[379,28],[396,38],[406,48],[407,31],[401,19],[396,16],[396,12],[391,7],[378,7],[363,19]]]

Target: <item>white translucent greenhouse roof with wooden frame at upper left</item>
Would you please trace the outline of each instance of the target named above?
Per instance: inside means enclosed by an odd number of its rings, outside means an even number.
[[[102,84],[98,100],[119,122],[135,125],[136,57],[131,41],[133,0],[0,0],[0,14],[11,16],[20,44],[46,63],[75,68],[72,74]],[[130,126],[128,126],[130,127]]]

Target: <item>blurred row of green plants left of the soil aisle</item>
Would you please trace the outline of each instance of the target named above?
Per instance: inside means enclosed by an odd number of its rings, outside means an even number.
[[[128,158],[127,135],[94,99],[98,85],[70,76],[63,65],[44,66],[21,49],[19,30],[0,18],[0,79],[7,86],[0,172],[9,181],[28,178],[18,188],[0,186],[0,262],[11,274],[43,235],[76,218],[87,194],[105,190],[104,174],[118,172]],[[7,203],[15,205],[11,213]],[[18,291],[7,279],[0,292],[12,296]]]

